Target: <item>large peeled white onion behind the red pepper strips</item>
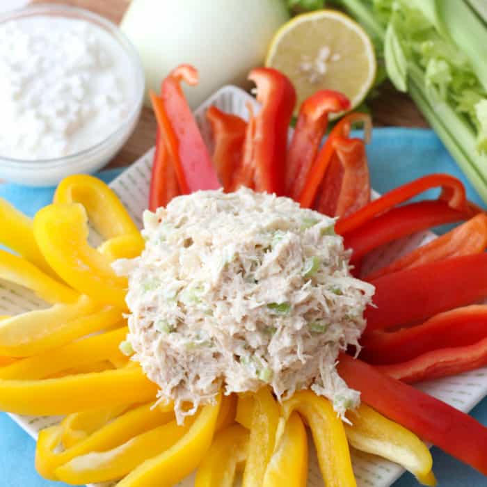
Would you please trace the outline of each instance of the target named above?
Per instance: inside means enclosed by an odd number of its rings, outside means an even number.
[[[133,0],[122,30],[141,55],[147,90],[159,93],[179,64],[199,70],[198,86],[185,88],[195,108],[225,84],[246,86],[288,18],[282,0]]]

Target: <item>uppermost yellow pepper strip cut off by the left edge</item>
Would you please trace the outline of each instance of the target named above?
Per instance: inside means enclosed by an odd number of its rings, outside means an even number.
[[[52,275],[52,269],[35,243],[31,218],[0,198],[0,221],[0,244],[14,250],[42,271]]]

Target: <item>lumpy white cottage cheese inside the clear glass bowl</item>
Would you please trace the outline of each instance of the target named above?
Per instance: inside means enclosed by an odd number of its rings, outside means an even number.
[[[0,24],[0,157],[54,159],[102,142],[127,118],[129,59],[85,20]]]

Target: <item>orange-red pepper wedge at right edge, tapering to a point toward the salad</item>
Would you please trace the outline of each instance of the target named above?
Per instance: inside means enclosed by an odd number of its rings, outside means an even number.
[[[487,215],[481,213],[469,221],[445,233],[438,239],[430,241],[412,252],[399,257],[388,266],[370,273],[367,280],[376,279],[385,274],[411,269],[412,267],[458,257],[459,255],[471,255],[484,252],[487,247]]]

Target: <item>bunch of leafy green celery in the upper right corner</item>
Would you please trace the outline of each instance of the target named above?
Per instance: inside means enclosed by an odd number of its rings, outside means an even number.
[[[487,202],[487,2],[338,0]]]

